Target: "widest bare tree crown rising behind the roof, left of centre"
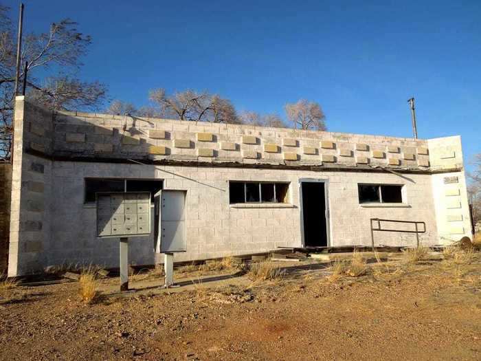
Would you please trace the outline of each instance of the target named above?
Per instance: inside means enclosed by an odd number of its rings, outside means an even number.
[[[150,91],[149,99],[164,118],[192,120],[196,122],[238,123],[236,109],[230,100],[207,91],[179,91],[171,96],[165,89]],[[152,111],[152,109],[150,109]]]

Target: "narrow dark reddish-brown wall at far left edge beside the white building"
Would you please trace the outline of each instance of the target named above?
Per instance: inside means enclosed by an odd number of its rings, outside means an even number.
[[[0,163],[0,274],[4,274],[7,271],[8,265],[11,193],[12,164]]]

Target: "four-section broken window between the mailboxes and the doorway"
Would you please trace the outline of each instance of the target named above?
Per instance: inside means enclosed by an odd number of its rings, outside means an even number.
[[[287,203],[289,183],[229,182],[229,201],[236,203]]]

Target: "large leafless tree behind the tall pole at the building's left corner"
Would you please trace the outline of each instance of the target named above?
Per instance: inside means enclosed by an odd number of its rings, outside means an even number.
[[[49,109],[95,109],[107,88],[76,78],[80,58],[91,44],[90,36],[78,32],[77,23],[64,19],[52,23],[49,32],[27,34],[23,39],[21,64],[28,62],[28,94]],[[16,68],[16,31],[8,8],[0,6],[0,157],[10,155],[10,136]],[[23,68],[20,72],[23,78]]]

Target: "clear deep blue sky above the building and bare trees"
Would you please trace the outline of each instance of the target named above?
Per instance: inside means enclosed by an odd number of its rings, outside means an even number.
[[[17,11],[18,2],[3,1]],[[33,1],[25,29],[69,17],[93,37],[80,76],[135,105],[149,89],[206,89],[284,116],[299,98],[328,129],[462,135],[481,153],[481,1]]]

